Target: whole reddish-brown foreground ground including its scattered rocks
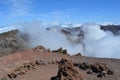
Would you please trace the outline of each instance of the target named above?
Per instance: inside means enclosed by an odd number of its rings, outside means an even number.
[[[119,59],[70,56],[62,49],[50,51],[39,46],[0,57],[0,80],[120,80],[119,77]]]

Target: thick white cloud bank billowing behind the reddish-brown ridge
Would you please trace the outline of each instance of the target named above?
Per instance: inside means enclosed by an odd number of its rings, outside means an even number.
[[[120,36],[103,31],[98,24],[76,24],[84,31],[84,39],[76,43],[78,37],[72,35],[72,42],[61,33],[65,27],[76,27],[72,24],[44,24],[40,21],[24,22],[15,26],[0,28],[0,33],[13,29],[19,29],[21,32],[29,35],[28,46],[33,48],[43,45],[51,50],[63,47],[71,55],[81,53],[84,56],[120,58]],[[50,28],[51,30],[46,30]],[[84,45],[83,45],[84,44]]]

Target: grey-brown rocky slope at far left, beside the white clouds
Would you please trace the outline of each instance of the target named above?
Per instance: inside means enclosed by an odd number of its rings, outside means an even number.
[[[0,56],[27,49],[27,40],[18,30],[0,34]]]

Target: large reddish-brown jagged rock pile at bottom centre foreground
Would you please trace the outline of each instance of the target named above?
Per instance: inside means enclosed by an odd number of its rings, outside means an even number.
[[[61,59],[59,62],[58,74],[51,80],[83,80],[83,77],[74,69],[73,63],[67,59]]]

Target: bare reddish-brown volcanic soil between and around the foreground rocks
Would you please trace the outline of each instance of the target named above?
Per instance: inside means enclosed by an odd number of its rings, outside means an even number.
[[[84,56],[70,56],[67,54],[52,53],[49,50],[27,50],[14,54],[0,57],[0,80],[7,77],[7,74],[14,72],[15,69],[23,65],[23,63],[32,63],[36,60],[44,62],[43,65],[35,66],[35,69],[30,69],[23,75],[18,75],[14,80],[50,80],[58,74],[58,64],[54,63],[60,61],[62,58],[70,59],[73,63],[89,63],[102,62],[108,68],[114,71],[113,75],[106,77],[97,77],[98,73],[87,74],[87,70],[82,70],[79,67],[74,67],[83,76],[83,80],[120,80],[120,60],[119,59],[106,59],[106,58],[92,58]],[[42,64],[42,63],[41,63]]]

